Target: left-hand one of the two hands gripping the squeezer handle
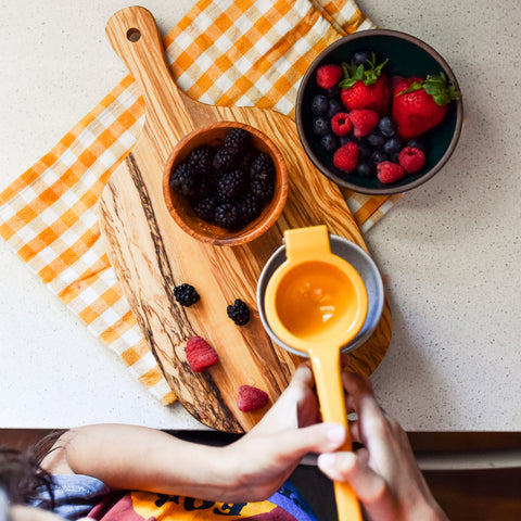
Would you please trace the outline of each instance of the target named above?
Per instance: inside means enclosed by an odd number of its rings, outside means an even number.
[[[280,488],[305,454],[332,452],[343,445],[344,427],[318,423],[313,385],[312,369],[302,364],[264,418],[226,447],[227,459],[237,461],[237,480],[226,496],[231,494],[229,500],[266,499]]]

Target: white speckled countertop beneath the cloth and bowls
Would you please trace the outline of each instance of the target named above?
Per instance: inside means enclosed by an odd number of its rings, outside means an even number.
[[[104,25],[124,0],[0,0],[0,189],[126,74]],[[160,29],[193,0],[141,0]],[[521,430],[521,3],[359,0],[450,64],[466,123],[448,165],[366,236],[389,277],[393,339],[372,377],[410,431]],[[505,100],[505,101],[503,101]],[[201,428],[164,407],[0,242],[3,428]]]

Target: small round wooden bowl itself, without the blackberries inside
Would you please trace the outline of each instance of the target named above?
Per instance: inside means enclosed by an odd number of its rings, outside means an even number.
[[[258,152],[269,154],[276,170],[275,192],[271,201],[264,205],[260,215],[255,220],[244,228],[233,231],[202,220],[193,212],[188,198],[173,190],[169,182],[171,171],[188,157],[193,149],[203,145],[209,148],[223,145],[225,137],[231,128],[242,128],[249,131],[252,136],[253,147]],[[177,143],[165,166],[163,194],[171,217],[189,236],[218,246],[234,246],[257,239],[279,218],[288,196],[288,169],[282,154],[265,134],[242,123],[219,122],[190,132]]]

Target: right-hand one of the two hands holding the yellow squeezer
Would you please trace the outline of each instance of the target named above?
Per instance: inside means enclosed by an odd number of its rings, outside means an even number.
[[[321,454],[318,466],[331,480],[347,481],[372,521],[448,521],[416,463],[407,434],[380,408],[368,378],[344,372],[353,442],[364,448]],[[327,453],[323,450],[323,453]]]

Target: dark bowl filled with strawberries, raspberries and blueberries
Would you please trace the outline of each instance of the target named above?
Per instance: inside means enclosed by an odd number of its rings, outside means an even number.
[[[445,60],[405,33],[341,38],[298,88],[296,126],[315,166],[368,194],[401,193],[431,179],[461,132],[458,84]]]

